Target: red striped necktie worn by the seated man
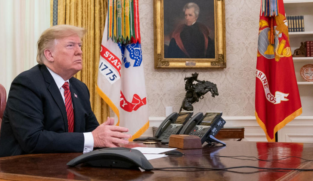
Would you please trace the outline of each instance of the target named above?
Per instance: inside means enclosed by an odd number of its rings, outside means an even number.
[[[69,91],[69,83],[65,82],[62,87],[64,88],[65,108],[67,114],[67,121],[69,132],[74,132],[74,111],[72,106],[71,91]]]

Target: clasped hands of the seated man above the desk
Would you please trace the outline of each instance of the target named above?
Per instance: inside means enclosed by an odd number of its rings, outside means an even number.
[[[118,147],[119,143],[127,144],[129,141],[123,138],[131,138],[130,134],[125,134],[123,132],[128,132],[128,128],[113,126],[114,118],[107,118],[105,123],[93,130],[92,136],[94,137],[94,148],[103,147]]]

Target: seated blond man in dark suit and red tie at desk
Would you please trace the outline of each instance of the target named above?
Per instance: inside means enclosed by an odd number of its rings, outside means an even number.
[[[0,132],[0,157],[86,153],[94,147],[128,143],[131,135],[124,133],[128,129],[114,126],[113,118],[99,126],[87,86],[73,77],[82,69],[84,34],[84,28],[57,25],[41,35],[38,65],[11,84]]]

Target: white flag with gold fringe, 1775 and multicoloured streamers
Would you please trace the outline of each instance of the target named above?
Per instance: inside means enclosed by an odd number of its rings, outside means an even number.
[[[140,44],[138,0],[108,0],[98,66],[97,91],[138,138],[149,127]]]

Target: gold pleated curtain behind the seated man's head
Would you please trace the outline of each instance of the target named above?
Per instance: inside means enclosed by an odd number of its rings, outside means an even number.
[[[53,24],[53,0],[50,0],[50,26]],[[74,77],[90,91],[90,103],[99,123],[110,116],[109,106],[96,91],[101,38],[105,26],[107,0],[58,0],[58,24],[69,24],[87,30],[83,38],[83,69]]]

